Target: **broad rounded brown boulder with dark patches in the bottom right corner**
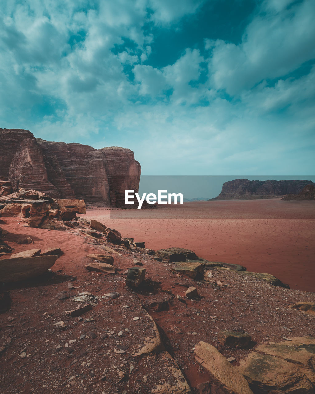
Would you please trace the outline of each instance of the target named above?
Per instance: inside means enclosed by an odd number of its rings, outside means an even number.
[[[302,370],[278,357],[252,352],[238,369],[257,394],[314,393],[313,385]]]

